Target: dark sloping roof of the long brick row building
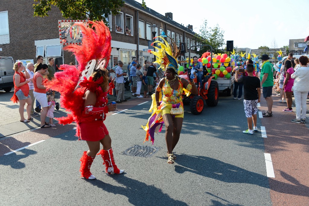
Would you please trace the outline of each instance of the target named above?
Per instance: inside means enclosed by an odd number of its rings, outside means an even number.
[[[139,10],[141,10],[141,11],[143,11],[143,12],[149,14],[149,15],[155,16],[158,19],[161,19],[161,20],[173,25],[174,27],[180,28],[180,29],[192,34],[192,35],[195,35],[195,32],[193,32],[191,29],[188,29],[187,27],[181,25],[180,23],[177,23],[177,22],[165,17],[165,15],[159,14],[158,12],[156,12],[153,9],[150,9],[149,7],[146,7],[146,9],[144,9],[142,7],[142,4],[139,3],[139,2],[136,2],[134,0],[124,0],[124,1],[125,1],[125,3],[129,4],[130,6],[133,6],[133,7],[137,8],[137,9],[139,9]]]

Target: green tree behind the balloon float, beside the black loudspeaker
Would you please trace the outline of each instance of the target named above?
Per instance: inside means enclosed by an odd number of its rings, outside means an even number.
[[[224,31],[221,30],[217,24],[215,27],[207,27],[207,20],[205,19],[203,24],[200,27],[200,33],[196,35],[197,41],[201,44],[208,44],[213,48],[214,53],[221,53],[222,50],[220,47],[224,45]],[[207,50],[210,50],[209,47],[201,47],[200,51],[197,54],[201,55]]]

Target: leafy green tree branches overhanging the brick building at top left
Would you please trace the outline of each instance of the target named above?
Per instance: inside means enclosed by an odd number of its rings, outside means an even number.
[[[103,20],[102,15],[116,15],[119,8],[124,5],[123,0],[34,0],[34,15],[38,17],[48,16],[52,6],[56,6],[66,19],[90,19],[93,21]],[[142,6],[146,8],[144,0]]]

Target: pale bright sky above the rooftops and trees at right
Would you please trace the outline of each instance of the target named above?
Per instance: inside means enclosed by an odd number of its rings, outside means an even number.
[[[142,0],[136,1],[142,3]],[[234,46],[238,48],[273,48],[274,40],[277,48],[281,48],[289,45],[289,39],[309,36],[309,0],[145,2],[147,7],[162,15],[173,13],[173,20],[178,23],[193,25],[196,33],[199,33],[204,19],[208,27],[218,24],[224,31],[225,44],[226,40],[234,40]]]

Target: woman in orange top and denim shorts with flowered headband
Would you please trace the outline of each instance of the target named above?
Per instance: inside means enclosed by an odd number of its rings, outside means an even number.
[[[31,97],[29,95],[28,82],[30,82],[31,80],[26,80],[26,79],[30,78],[30,75],[26,71],[26,67],[20,61],[15,62],[14,66],[13,66],[13,70],[15,71],[15,74],[13,76],[14,95],[11,98],[11,100],[14,103],[18,103],[18,101],[19,101],[20,121],[21,122],[30,122],[29,120],[32,119],[32,117],[30,116],[32,100],[31,100]],[[24,73],[22,71],[24,71]],[[23,116],[26,103],[27,103],[26,109],[27,109],[27,115],[28,115],[27,120]]]

